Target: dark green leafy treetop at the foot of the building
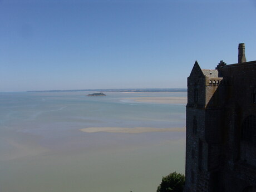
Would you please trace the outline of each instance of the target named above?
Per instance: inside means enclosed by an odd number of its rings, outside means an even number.
[[[161,184],[157,187],[156,192],[183,192],[185,184],[185,175],[171,173],[163,176]]]

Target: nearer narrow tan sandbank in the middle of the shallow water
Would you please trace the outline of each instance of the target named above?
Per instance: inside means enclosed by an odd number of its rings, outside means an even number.
[[[88,127],[80,129],[83,132],[121,132],[127,134],[140,134],[142,132],[185,132],[185,127],[182,128],[153,128],[153,127]]]

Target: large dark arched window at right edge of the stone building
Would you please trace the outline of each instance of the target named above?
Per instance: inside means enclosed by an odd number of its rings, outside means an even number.
[[[249,115],[242,124],[241,140],[256,145],[256,117]]]

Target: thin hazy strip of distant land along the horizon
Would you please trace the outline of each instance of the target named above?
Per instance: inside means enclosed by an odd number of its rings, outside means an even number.
[[[36,90],[26,92],[186,92],[186,88],[112,88],[112,89],[87,89],[87,90]]]

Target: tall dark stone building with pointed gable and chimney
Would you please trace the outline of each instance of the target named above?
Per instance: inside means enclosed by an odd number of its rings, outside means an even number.
[[[256,191],[256,61],[195,62],[188,77],[184,192]]]

